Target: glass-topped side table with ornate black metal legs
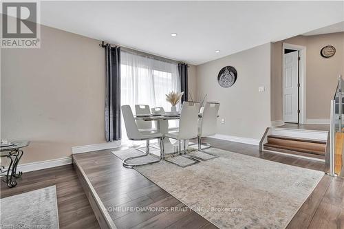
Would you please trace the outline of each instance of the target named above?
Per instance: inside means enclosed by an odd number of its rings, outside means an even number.
[[[3,182],[6,182],[7,186],[13,188],[17,185],[17,178],[23,175],[22,172],[17,173],[17,166],[23,156],[21,148],[26,147],[30,144],[29,141],[15,141],[12,145],[0,148],[0,157],[7,157],[10,160],[8,168],[5,169],[3,166],[0,168],[0,176],[5,177]]]

